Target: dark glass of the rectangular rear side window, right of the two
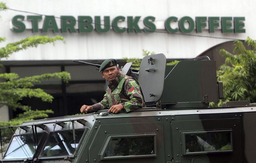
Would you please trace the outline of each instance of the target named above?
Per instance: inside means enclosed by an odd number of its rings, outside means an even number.
[[[185,134],[186,153],[231,151],[231,132]]]

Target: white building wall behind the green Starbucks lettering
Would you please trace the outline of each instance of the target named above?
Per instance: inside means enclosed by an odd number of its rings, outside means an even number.
[[[0,43],[0,47],[6,43],[18,41],[22,38],[32,35],[61,35],[65,38],[66,44],[58,41],[52,45],[40,45],[37,49],[31,48],[12,54],[8,60],[69,60],[69,59],[106,59],[123,57],[142,58],[142,49],[164,53],[166,58],[193,58],[204,50],[214,45],[235,39],[246,39],[250,36],[256,39],[254,10],[256,1],[252,0],[1,0],[9,8],[36,12],[46,15],[72,15],[77,19],[78,15],[91,16],[110,16],[110,19],[116,16],[141,16],[140,25],[146,16],[156,17],[155,24],[157,30],[164,30],[164,20],[170,16],[176,16],[179,19],[183,16],[189,16],[195,19],[196,16],[230,16],[245,17],[246,33],[223,34],[218,29],[215,33],[191,32],[192,35],[204,35],[214,37],[227,37],[230,39],[196,37],[190,35],[177,35],[167,33],[115,33],[110,30],[107,33],[32,33],[26,30],[23,33],[14,33],[11,31],[11,19],[13,16],[32,15],[7,10],[0,12],[0,36],[7,38],[6,42]],[[56,21],[59,21],[56,19]],[[26,25],[29,27],[28,22]],[[42,22],[40,22],[42,25]],[[60,26],[59,26],[60,27]],[[140,27],[144,27],[143,25]],[[178,32],[180,33],[180,32]]]

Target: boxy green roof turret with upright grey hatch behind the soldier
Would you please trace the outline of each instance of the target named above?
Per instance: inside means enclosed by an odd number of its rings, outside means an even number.
[[[216,61],[186,60],[166,66],[164,54],[142,59],[139,83],[147,106],[208,107],[219,99]]]

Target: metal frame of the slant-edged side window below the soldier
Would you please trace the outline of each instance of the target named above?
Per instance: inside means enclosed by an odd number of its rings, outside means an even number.
[[[107,156],[104,157],[105,152],[108,149],[108,146],[112,140],[112,138],[127,138],[127,137],[154,137],[154,151],[155,154],[150,155],[129,155],[129,156]],[[105,141],[100,153],[99,153],[99,159],[100,160],[108,160],[108,159],[131,159],[131,158],[145,158],[145,157],[156,157],[157,156],[157,147],[156,147],[156,134],[147,134],[147,133],[141,133],[141,134],[131,134],[131,135],[108,135],[107,140]]]

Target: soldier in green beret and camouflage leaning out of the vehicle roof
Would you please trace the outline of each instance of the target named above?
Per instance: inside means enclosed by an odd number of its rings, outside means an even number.
[[[108,81],[106,94],[102,101],[88,106],[83,105],[81,113],[109,109],[108,112],[118,113],[124,109],[126,113],[140,107],[146,107],[139,84],[130,76],[122,74],[117,67],[116,59],[107,59],[100,65],[103,78]]]

